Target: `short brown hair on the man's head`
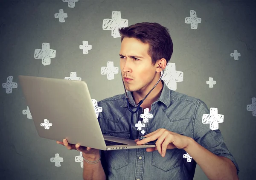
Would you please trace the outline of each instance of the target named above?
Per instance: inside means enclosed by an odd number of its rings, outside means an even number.
[[[125,37],[133,37],[147,43],[152,65],[155,65],[157,60],[161,58],[165,58],[167,63],[171,59],[173,43],[168,28],[158,23],[136,23],[119,28],[119,33],[121,34],[121,42]]]

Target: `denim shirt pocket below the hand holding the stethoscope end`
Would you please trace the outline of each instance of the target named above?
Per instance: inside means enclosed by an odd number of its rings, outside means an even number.
[[[181,132],[175,132],[184,135]],[[167,149],[165,157],[162,157],[156,150],[152,152],[152,166],[157,167],[163,171],[169,171],[177,166],[180,166],[181,158],[183,158],[182,149]]]

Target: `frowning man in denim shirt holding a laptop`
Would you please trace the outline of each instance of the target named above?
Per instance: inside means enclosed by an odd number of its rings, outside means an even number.
[[[158,23],[137,23],[119,32],[122,80],[134,111],[160,79],[161,68],[172,56],[173,44],[168,29]],[[212,131],[209,124],[202,124],[202,115],[209,114],[209,109],[200,99],[169,90],[160,81],[134,114],[132,137],[125,94],[99,101],[98,106],[103,109],[98,118],[103,134],[131,138],[137,144],[155,141],[156,147],[99,151],[57,141],[67,149],[83,152],[84,179],[192,180],[196,164],[211,180],[238,179],[238,165],[220,130]],[[143,121],[140,115],[145,109],[153,118],[145,123],[143,131],[138,131],[135,124]],[[139,141],[142,135],[146,138]],[[186,153],[192,157],[191,162],[183,158],[188,156]]]

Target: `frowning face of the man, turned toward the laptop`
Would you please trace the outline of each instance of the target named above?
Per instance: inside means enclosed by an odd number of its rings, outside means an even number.
[[[125,88],[128,91],[148,91],[148,88],[152,88],[150,83],[156,75],[157,64],[152,65],[148,48],[148,44],[144,44],[135,38],[124,38],[122,40],[119,53],[120,68]]]

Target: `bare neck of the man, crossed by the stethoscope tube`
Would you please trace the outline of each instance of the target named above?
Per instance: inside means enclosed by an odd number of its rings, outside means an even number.
[[[156,82],[151,82],[149,87],[146,87],[145,89],[132,92],[135,104],[139,103],[140,100],[142,100],[148,94],[148,92],[151,90],[151,88],[155,85]],[[149,93],[148,97],[145,99],[145,101],[142,103],[141,106],[142,107],[151,106],[151,104],[154,101],[157,101],[157,99],[160,97],[162,90],[163,90],[163,83],[160,80],[157,86],[154,87],[151,93]]]

